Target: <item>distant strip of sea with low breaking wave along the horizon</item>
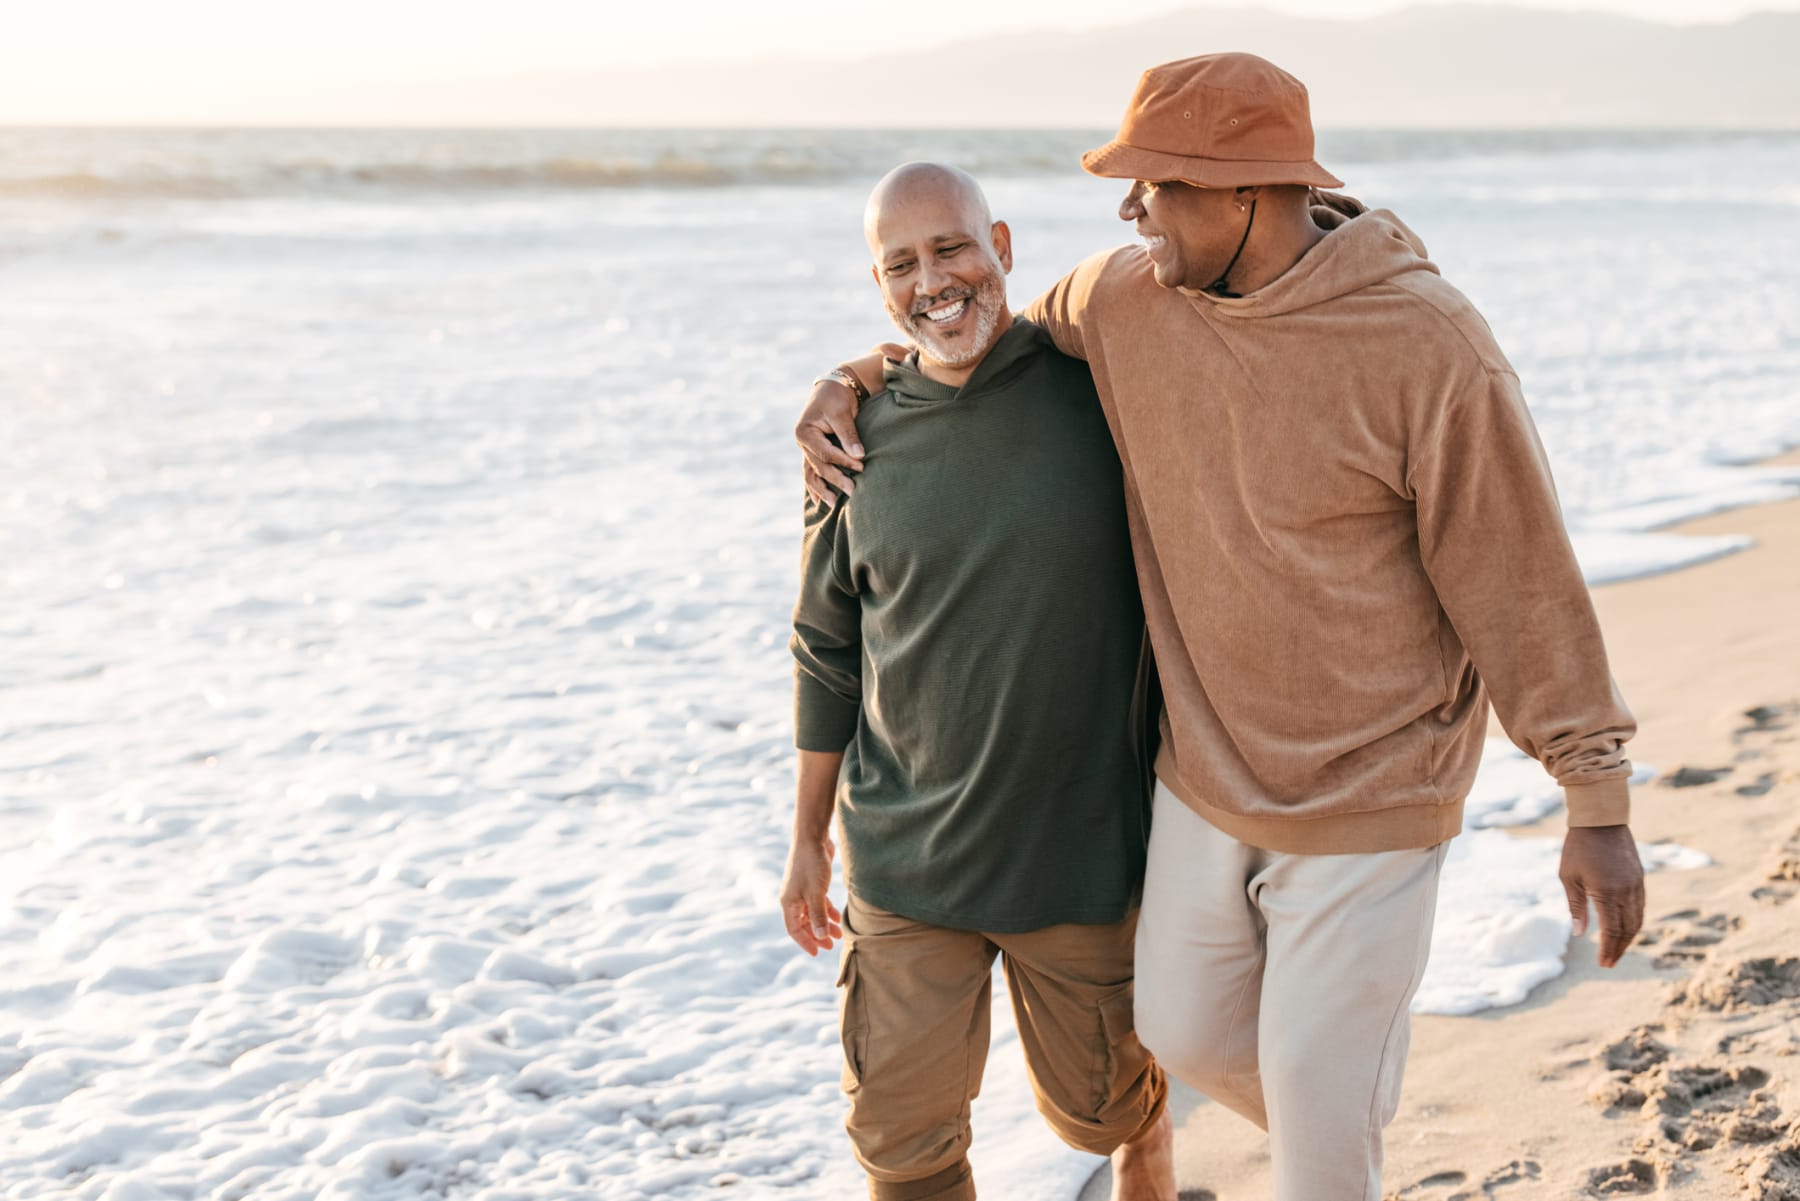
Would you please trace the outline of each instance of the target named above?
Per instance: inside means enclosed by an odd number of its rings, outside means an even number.
[[[869,182],[907,158],[1062,175],[1103,130],[0,130],[0,198],[227,200],[335,193],[688,189]],[[1327,130],[1327,162],[1381,164],[1780,133]]]

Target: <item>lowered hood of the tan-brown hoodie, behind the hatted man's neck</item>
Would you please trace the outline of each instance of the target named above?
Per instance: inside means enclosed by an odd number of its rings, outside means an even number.
[[[1220,317],[1280,317],[1408,272],[1438,274],[1418,234],[1386,209],[1350,216],[1337,207],[1314,205],[1312,220],[1330,232],[1274,283],[1229,299],[1193,288],[1181,292],[1195,304],[1211,304]]]

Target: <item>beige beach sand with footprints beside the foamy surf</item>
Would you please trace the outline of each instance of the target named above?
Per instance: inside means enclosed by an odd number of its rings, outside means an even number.
[[[1525,1005],[1415,1021],[1390,1201],[1800,1201],[1800,501],[1678,529],[1757,546],[1595,603],[1663,772],[1633,828],[1715,862],[1649,879],[1616,969],[1589,935]],[[1175,1120],[1183,1201],[1269,1197],[1260,1131],[1186,1089]]]

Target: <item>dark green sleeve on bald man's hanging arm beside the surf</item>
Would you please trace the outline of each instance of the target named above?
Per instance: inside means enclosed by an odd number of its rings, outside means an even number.
[[[794,605],[794,745],[842,751],[862,713],[862,601],[842,546],[848,501],[806,499],[799,601]]]

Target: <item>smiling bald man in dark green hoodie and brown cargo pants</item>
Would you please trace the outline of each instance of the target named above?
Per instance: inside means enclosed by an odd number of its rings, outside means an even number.
[[[1174,1201],[1132,1025],[1152,776],[1120,461],[1087,366],[1012,317],[1010,232],[968,175],[898,167],[864,227],[918,351],[862,405],[855,501],[806,502],[781,886],[806,954],[842,940],[851,1147],[877,1201],[976,1196],[999,958],[1044,1120],[1112,1156],[1120,1201]]]

